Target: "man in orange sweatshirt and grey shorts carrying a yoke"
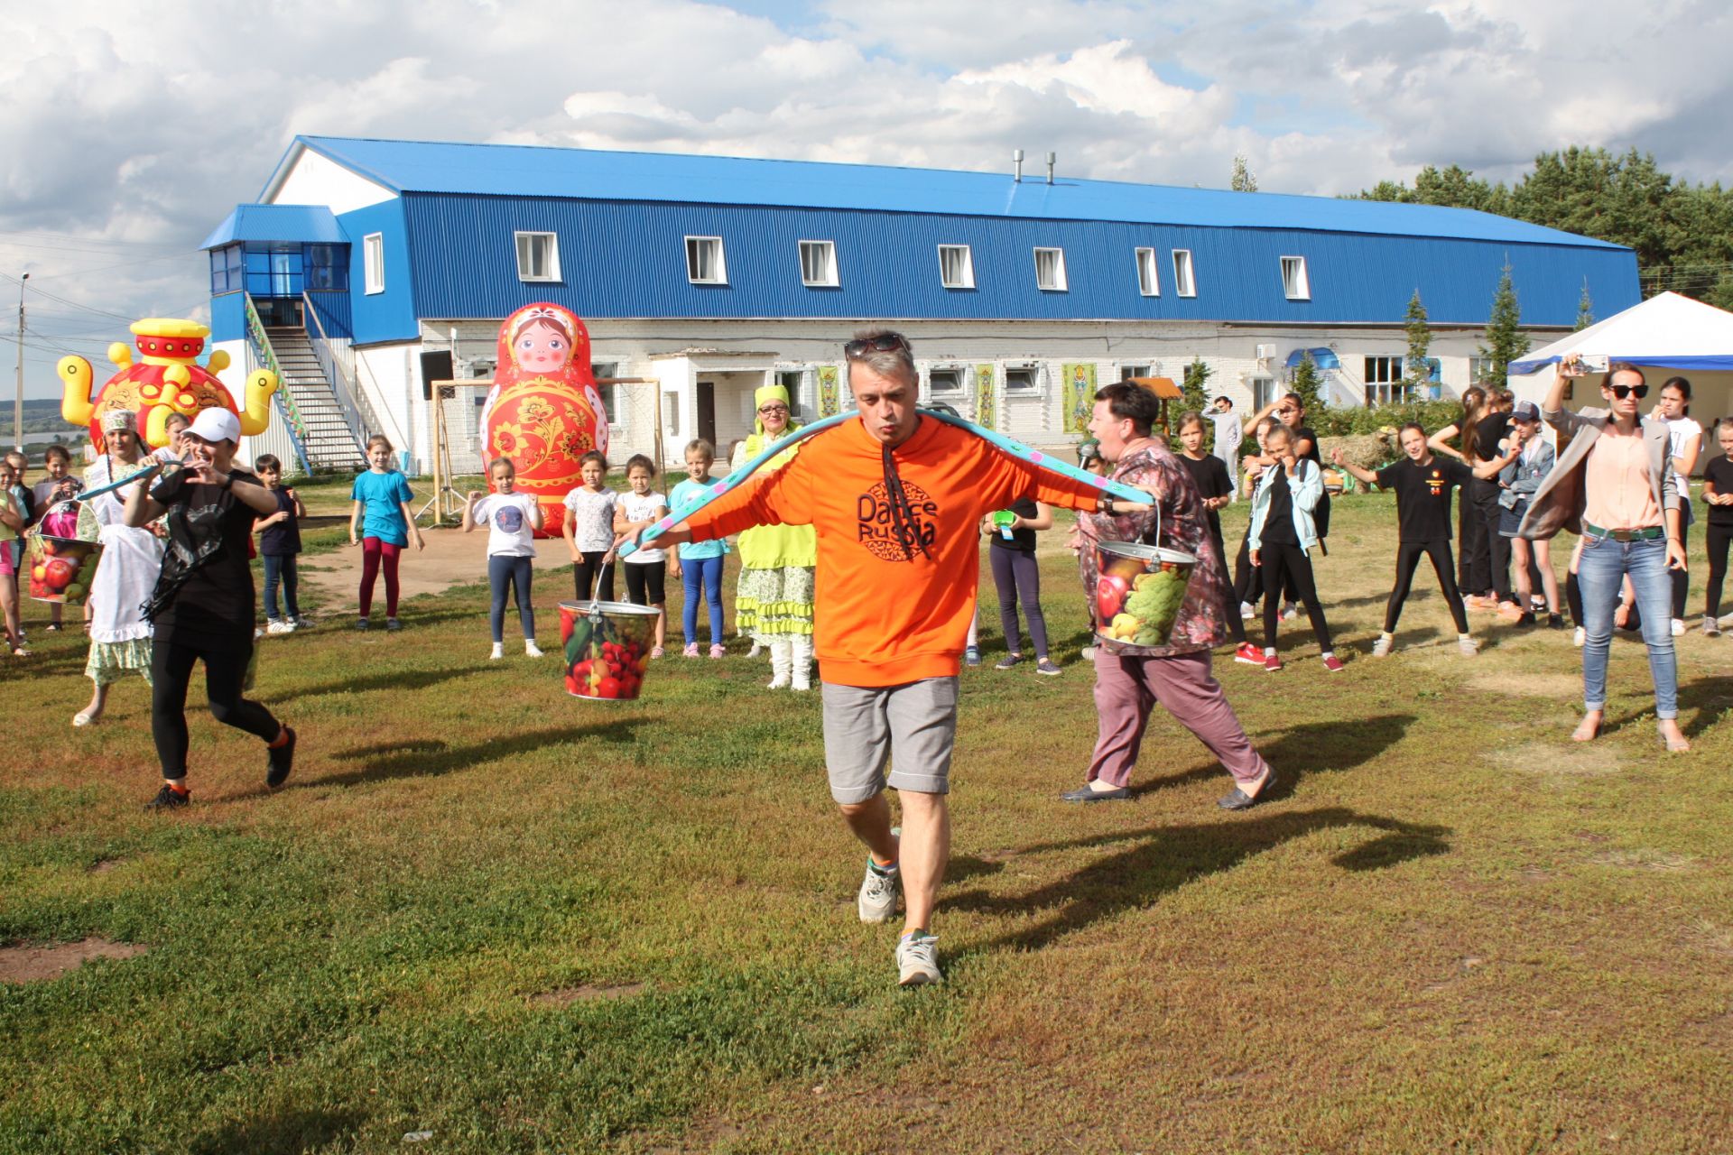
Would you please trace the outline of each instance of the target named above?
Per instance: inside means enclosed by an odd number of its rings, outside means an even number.
[[[910,987],[939,980],[931,926],[950,855],[957,674],[974,618],[981,518],[1022,497],[1109,513],[1146,506],[1114,502],[967,429],[922,419],[920,377],[901,334],[861,332],[844,355],[860,421],[815,435],[790,462],[660,540],[709,540],[754,525],[816,526],[813,636],[830,795],[868,850],[856,900],[861,921],[887,921],[903,892],[896,965],[898,982]],[[903,803],[901,836],[891,828],[886,786]]]

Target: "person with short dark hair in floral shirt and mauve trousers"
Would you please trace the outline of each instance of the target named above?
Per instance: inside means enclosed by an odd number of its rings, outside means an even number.
[[[1088,431],[1113,466],[1114,481],[1147,490],[1158,504],[1147,513],[1080,514],[1083,537],[1080,568],[1087,597],[1095,596],[1095,542],[1146,542],[1198,558],[1178,620],[1165,646],[1133,646],[1095,636],[1095,707],[1100,732],[1090,757],[1088,781],[1061,795],[1066,802],[1106,802],[1130,797],[1132,767],[1159,701],[1185,729],[1222,760],[1234,790],[1217,805],[1244,810],[1275,784],[1270,769],[1227,705],[1222,684],[1210,674],[1210,649],[1227,641],[1222,611],[1227,575],[1215,551],[1203,499],[1180,461],[1149,433],[1161,409],[1154,393],[1130,384],[1109,384],[1095,393]],[[1156,532],[1159,526],[1159,540]]]

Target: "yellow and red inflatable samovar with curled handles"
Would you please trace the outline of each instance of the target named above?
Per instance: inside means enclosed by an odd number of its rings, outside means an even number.
[[[102,414],[130,409],[139,414],[139,438],[151,448],[168,445],[163,428],[170,414],[194,417],[201,409],[227,409],[241,417],[241,433],[256,436],[270,424],[270,395],[277,391],[277,374],[256,369],[246,377],[246,409],[237,409],[229,388],[217,377],[229,367],[229,353],[217,350],[204,365],[198,364],[210,329],[194,320],[146,317],[132,326],[140,360],[121,341],[109,346],[116,372],[101,391],[94,391],[95,374],[83,357],[62,357],[64,393],[61,416],[73,424],[90,426],[90,443],[101,454]]]

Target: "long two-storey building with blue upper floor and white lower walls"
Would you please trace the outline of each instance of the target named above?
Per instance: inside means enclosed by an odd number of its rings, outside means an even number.
[[[608,391],[615,450],[659,424],[726,450],[768,379],[813,414],[847,403],[841,345],[861,324],[910,336],[929,400],[1062,443],[1090,383],[1194,358],[1244,407],[1301,350],[1331,403],[1400,397],[1416,291],[1435,358],[1412,376],[1452,395],[1480,374],[1504,267],[1537,332],[1568,331],[1584,289],[1603,315],[1639,300],[1631,249],[1470,210],[343,137],[298,137],[204,248],[213,339],[246,352],[237,369],[300,362],[288,403],[329,393],[333,438],[338,417],[383,431],[411,466],[432,448],[421,353],[485,379],[499,320],[537,300],[586,320],[598,376],[652,381]],[[317,424],[300,417],[281,424]]]

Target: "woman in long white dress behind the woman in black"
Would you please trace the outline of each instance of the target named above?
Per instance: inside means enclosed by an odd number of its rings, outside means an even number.
[[[102,455],[85,469],[85,488],[101,488],[140,474],[153,466],[139,438],[139,414],[111,409],[102,414]],[[127,525],[127,492],[101,494],[78,506],[78,537],[102,542],[102,559],[90,580],[90,705],[73,715],[73,726],[95,726],[107,707],[109,686],[128,672],[151,681],[151,623],[140,606],[163,568],[163,542],[144,526]]]

